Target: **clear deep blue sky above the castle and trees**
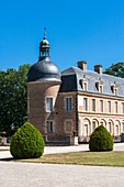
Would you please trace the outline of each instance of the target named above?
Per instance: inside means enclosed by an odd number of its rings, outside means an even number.
[[[124,0],[1,0],[0,69],[38,59],[44,28],[50,59],[64,70],[87,61],[124,62]]]

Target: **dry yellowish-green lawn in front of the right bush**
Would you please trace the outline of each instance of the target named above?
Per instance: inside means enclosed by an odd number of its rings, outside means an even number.
[[[23,160],[23,162],[124,167],[124,152],[75,152],[50,154],[40,158]]]

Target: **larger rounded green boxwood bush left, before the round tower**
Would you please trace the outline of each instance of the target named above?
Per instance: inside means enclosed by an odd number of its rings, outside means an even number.
[[[13,158],[36,158],[44,153],[44,140],[41,132],[25,122],[12,136],[10,152]]]

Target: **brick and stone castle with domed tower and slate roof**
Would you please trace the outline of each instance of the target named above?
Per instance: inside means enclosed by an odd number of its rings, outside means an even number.
[[[120,140],[124,132],[124,79],[105,75],[102,66],[78,67],[60,73],[50,62],[46,31],[38,62],[27,74],[27,118],[48,144],[88,142],[98,125]]]

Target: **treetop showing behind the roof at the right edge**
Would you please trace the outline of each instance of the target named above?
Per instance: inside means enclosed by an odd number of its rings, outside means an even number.
[[[116,64],[112,64],[112,66],[105,69],[104,74],[124,78],[124,63],[119,62]]]

